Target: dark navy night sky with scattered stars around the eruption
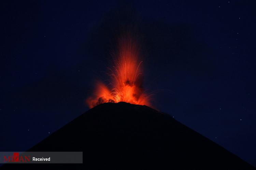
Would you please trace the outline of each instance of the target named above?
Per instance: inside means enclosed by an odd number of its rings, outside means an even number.
[[[256,166],[253,2],[1,1],[0,150],[25,151],[86,112],[126,29],[154,107]]]

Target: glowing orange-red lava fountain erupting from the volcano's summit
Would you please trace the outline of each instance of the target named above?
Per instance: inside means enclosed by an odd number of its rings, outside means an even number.
[[[112,52],[114,66],[109,68],[109,85],[98,82],[94,97],[86,103],[90,108],[106,102],[127,102],[150,106],[149,96],[142,86],[142,61],[139,49],[132,38],[121,38],[116,52]]]

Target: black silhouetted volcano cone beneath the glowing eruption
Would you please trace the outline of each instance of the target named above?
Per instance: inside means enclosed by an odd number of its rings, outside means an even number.
[[[171,116],[124,102],[90,109],[29,151],[83,151],[83,164],[9,164],[2,168],[254,169]]]

